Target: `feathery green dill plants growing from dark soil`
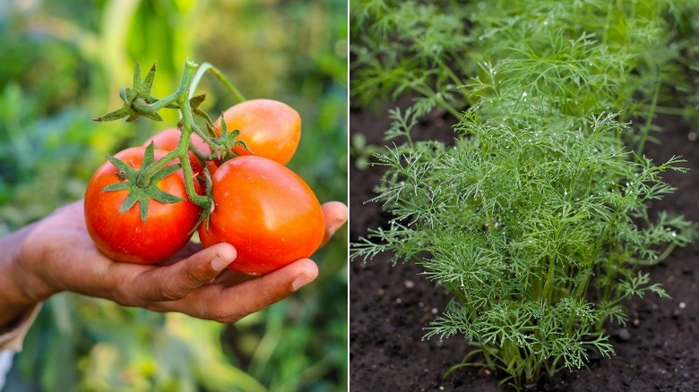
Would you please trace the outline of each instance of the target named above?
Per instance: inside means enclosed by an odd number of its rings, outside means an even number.
[[[379,72],[398,78],[398,93],[414,82],[400,81],[408,74],[400,72],[436,73],[419,79],[427,93],[411,90],[423,96],[413,107],[391,113],[386,136],[405,142],[376,156],[388,171],[373,201],[393,219],[352,244],[352,257],[390,251],[393,262],[415,260],[453,295],[426,337],[459,335],[479,346],[454,368],[498,369],[503,382],[521,388],[541,374],[582,367],[591,351],[609,356],[604,327],[626,323],[622,301],[667,296],[639,267],[695,236],[684,218],[650,217],[647,208],[674,191],[661,175],[683,171],[682,159],[655,165],[640,153],[677,60],[675,49],[660,50],[673,34],[663,18],[669,3],[493,1],[462,13],[433,7],[471,21],[454,38],[468,50],[440,52],[449,56],[436,67],[434,58],[410,55],[413,48],[401,51],[421,38],[403,32],[413,26],[404,19],[419,15],[386,4],[360,2],[355,10],[368,23],[354,26],[355,34],[369,31],[371,45],[382,33],[391,41],[380,44],[371,68],[361,53],[371,50],[355,48],[357,96],[368,99],[362,94],[370,85],[387,89],[372,79]],[[413,68],[398,71],[402,64]],[[459,71],[445,72],[447,64]],[[440,84],[451,78],[461,82]],[[458,116],[454,146],[412,141],[428,103],[458,102],[430,101],[455,85],[470,108]],[[482,361],[473,359],[478,354]]]

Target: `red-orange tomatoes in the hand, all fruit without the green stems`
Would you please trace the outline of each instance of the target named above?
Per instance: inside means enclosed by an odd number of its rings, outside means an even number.
[[[204,247],[222,242],[235,246],[237,259],[229,268],[238,272],[266,274],[313,254],[324,236],[323,210],[308,185],[285,166],[300,139],[298,112],[279,101],[253,99],[223,113],[214,123],[219,134],[221,121],[229,130],[240,130],[238,139],[246,142],[247,149],[237,146],[237,156],[225,162],[200,161],[189,151],[197,193],[204,193],[199,183],[204,168],[211,175],[211,211],[188,199],[180,168],[160,179],[157,187],[182,200],[149,200],[142,221],[138,206],[120,212],[128,191],[104,190],[125,181],[124,173],[109,161],[98,168],[85,192],[85,220],[100,251],[114,260],[157,263],[185,246],[199,224]],[[158,160],[176,149],[179,139],[177,128],[168,129],[144,146],[152,142]],[[211,146],[194,133],[190,143],[211,154]],[[115,158],[138,169],[144,146],[124,149]],[[202,221],[203,213],[210,215]]]

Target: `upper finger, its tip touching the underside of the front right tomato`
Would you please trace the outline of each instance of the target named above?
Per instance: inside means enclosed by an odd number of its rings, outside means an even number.
[[[235,260],[235,248],[218,243],[171,266],[150,268],[126,280],[136,303],[144,305],[184,298],[197,287],[217,277]]]

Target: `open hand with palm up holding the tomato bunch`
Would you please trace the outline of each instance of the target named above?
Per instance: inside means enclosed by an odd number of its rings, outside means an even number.
[[[0,239],[0,249],[6,244],[15,250],[5,252],[13,255],[9,261],[0,256],[0,315],[14,310],[16,317],[22,309],[69,290],[125,306],[235,322],[289,296],[318,275],[315,262],[305,259],[263,277],[240,276],[226,270],[236,258],[228,243],[207,249],[189,243],[158,266],[117,262],[92,243],[82,208],[82,200],[66,205]],[[338,201],[324,204],[323,211],[325,243],[347,221],[348,212]],[[10,320],[0,316],[0,325]]]

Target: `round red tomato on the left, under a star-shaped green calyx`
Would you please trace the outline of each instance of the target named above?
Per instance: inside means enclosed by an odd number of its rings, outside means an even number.
[[[128,166],[139,168],[144,147],[134,147],[118,152],[115,157]],[[155,150],[155,159],[168,151]],[[186,196],[182,170],[168,175],[158,183],[164,192],[184,200],[163,204],[150,200],[148,217],[141,220],[139,204],[119,213],[128,191],[103,192],[111,184],[124,181],[116,166],[105,162],[92,175],[85,192],[85,224],[92,240],[102,253],[119,261],[150,264],[165,260],[182,248],[190,238],[190,232],[199,217],[199,207]],[[199,185],[194,182],[199,192]]]

